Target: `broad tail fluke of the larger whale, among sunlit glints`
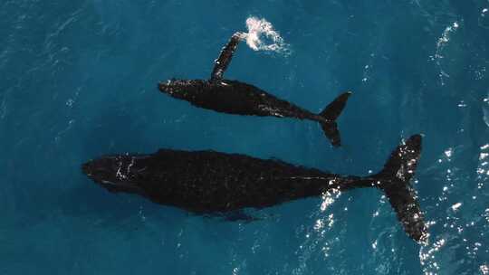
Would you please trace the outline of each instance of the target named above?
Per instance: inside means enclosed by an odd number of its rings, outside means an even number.
[[[386,193],[409,237],[417,242],[426,242],[427,226],[417,202],[416,192],[409,184],[416,172],[421,141],[421,135],[409,137],[392,151],[382,171],[373,178],[375,185]]]

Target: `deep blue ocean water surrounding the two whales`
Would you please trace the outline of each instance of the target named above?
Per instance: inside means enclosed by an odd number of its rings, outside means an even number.
[[[5,0],[0,3],[0,274],[489,274],[489,2]],[[226,78],[320,111],[351,90],[343,147],[319,125],[197,109],[158,92],[206,79],[264,17],[290,54],[240,45]],[[110,194],[90,158],[214,149],[367,175],[423,133],[429,244],[379,190],[229,223]],[[322,207],[321,207],[322,206]],[[324,209],[325,208],[325,209]]]

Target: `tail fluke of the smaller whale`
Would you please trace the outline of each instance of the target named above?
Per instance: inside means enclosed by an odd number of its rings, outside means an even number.
[[[341,111],[345,108],[350,95],[351,91],[340,94],[319,114],[323,119],[327,119],[325,122],[320,122],[321,128],[324,131],[324,135],[330,139],[333,147],[340,147],[341,145],[340,131],[338,130],[336,119],[340,117]]]

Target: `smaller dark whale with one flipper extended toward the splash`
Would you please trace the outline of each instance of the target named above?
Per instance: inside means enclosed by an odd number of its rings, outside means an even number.
[[[227,66],[233,58],[242,33],[235,33],[225,45],[215,62],[210,80],[170,80],[160,82],[161,92],[192,105],[235,115],[272,116],[277,118],[309,119],[321,124],[321,128],[334,147],[340,146],[340,132],[336,119],[350,97],[351,92],[340,94],[319,114],[302,109],[286,100],[253,85],[223,79]]]

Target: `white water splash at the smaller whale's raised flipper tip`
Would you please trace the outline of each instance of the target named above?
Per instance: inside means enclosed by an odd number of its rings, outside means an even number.
[[[283,42],[280,33],[273,30],[273,25],[264,18],[248,17],[248,33],[241,33],[241,38],[254,51],[277,52],[283,55],[291,53],[290,45]]]

